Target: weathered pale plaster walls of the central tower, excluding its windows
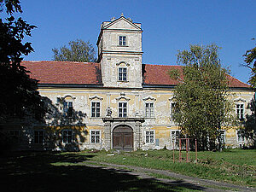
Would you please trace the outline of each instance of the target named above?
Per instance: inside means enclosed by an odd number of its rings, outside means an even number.
[[[102,83],[105,87],[142,88],[142,30],[130,21],[120,18],[104,22],[98,44],[102,55]],[[135,26],[134,26],[135,25]],[[125,36],[125,45],[119,45],[119,36]],[[119,81],[119,67],[126,67],[127,81]]]

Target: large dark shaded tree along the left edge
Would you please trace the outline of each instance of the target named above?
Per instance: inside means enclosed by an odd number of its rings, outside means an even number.
[[[22,55],[32,52],[31,43],[22,43],[36,26],[21,18],[15,20],[15,12],[22,13],[19,0],[1,0],[1,12],[5,9],[9,18],[0,19],[0,123],[9,118],[32,118],[43,120],[46,112],[42,96],[38,92],[38,81],[30,79],[26,67],[22,66]]]

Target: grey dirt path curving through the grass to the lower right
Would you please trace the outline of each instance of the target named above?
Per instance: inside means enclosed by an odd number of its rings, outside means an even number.
[[[125,166],[125,165],[116,165],[116,164],[110,164],[105,162],[97,162],[97,161],[84,161],[83,164],[90,167],[102,167],[104,169],[112,169],[115,172],[126,172],[127,174],[136,175],[137,177],[141,178],[154,178],[155,180],[158,180],[162,183],[168,183],[171,185],[182,185],[184,187],[188,186],[189,189],[193,189],[193,186],[195,186],[195,189],[203,190],[203,191],[256,191],[255,188],[250,187],[243,187],[238,186],[235,184],[230,183],[222,183],[207,179],[201,179],[197,177],[189,177],[184,176],[181,174],[177,174],[174,172],[169,172],[165,170],[157,170],[157,169],[148,169],[143,167],[137,167],[137,166]],[[131,170],[127,172],[127,169]],[[171,179],[166,178],[156,178],[153,176],[150,176],[150,173],[156,173],[160,175],[164,175],[167,177],[172,177]]]

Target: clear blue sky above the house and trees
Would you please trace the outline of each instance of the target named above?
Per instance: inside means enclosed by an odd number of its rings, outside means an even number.
[[[231,75],[247,82],[250,71],[241,67],[242,55],[256,41],[256,1],[123,1],[21,0],[32,31],[35,52],[27,61],[52,60],[51,49],[81,38],[95,45],[102,21],[121,13],[143,26],[143,63],[177,64],[177,50],[189,44],[217,44],[220,59]]]

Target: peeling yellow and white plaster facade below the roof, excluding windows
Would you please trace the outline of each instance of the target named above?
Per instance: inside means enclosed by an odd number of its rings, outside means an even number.
[[[85,113],[83,118],[84,130],[87,132],[84,142],[79,143],[79,148],[109,148],[106,146],[104,138],[106,133],[104,130],[104,123],[102,118],[106,117],[106,109],[110,107],[112,109],[112,117],[118,118],[118,102],[128,103],[128,117],[141,117],[145,121],[141,125],[141,147],[143,149],[149,148],[172,148],[171,143],[171,130],[178,130],[179,128],[170,118],[170,104],[172,102],[172,90],[163,89],[111,89],[111,88],[98,88],[98,89],[40,89],[42,96],[47,96],[53,103],[57,101],[57,97],[63,97],[66,95],[73,96],[73,108],[75,111],[82,111]],[[253,92],[251,91],[236,91],[236,96],[246,100],[247,106],[251,98],[253,98]],[[101,102],[101,117],[91,118],[90,114],[90,102]],[[145,102],[154,102],[154,117],[145,118]],[[235,109],[234,109],[235,113]],[[250,114],[251,111],[246,108],[245,113]],[[101,131],[101,143],[90,143],[90,130]],[[145,143],[145,131],[154,131],[154,143]],[[112,138],[111,138],[112,140]],[[230,129],[226,131],[225,135],[226,146],[239,147],[237,143],[236,129]],[[157,141],[157,142],[156,142]],[[135,141],[138,142],[138,141]]]

